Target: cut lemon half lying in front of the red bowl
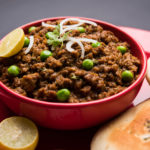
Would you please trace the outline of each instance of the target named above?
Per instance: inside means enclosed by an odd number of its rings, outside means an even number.
[[[0,123],[0,150],[34,150],[39,139],[36,125],[24,117],[10,117]]]

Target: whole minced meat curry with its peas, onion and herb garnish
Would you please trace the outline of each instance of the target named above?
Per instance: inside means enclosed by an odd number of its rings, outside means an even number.
[[[49,102],[87,102],[114,95],[139,75],[130,45],[81,19],[30,27],[24,47],[0,58],[0,81],[15,92]]]

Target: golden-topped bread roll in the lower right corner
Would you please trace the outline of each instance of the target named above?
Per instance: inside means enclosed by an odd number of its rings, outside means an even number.
[[[150,99],[100,128],[91,150],[150,150]]]

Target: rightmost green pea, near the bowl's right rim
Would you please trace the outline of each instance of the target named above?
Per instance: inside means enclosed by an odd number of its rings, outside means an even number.
[[[122,72],[122,80],[124,82],[131,82],[134,78],[134,75],[131,71],[125,70]]]

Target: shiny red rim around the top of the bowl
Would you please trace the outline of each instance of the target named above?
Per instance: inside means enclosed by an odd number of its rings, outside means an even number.
[[[138,49],[142,55],[142,58],[143,58],[143,65],[142,65],[141,73],[140,73],[138,79],[134,83],[132,83],[129,87],[127,87],[126,89],[124,89],[123,91],[121,91],[115,95],[112,95],[112,96],[109,96],[109,97],[106,97],[103,99],[97,99],[97,100],[92,100],[92,101],[83,102],[83,103],[60,103],[60,102],[58,103],[58,102],[46,102],[46,101],[41,101],[38,99],[33,99],[33,98],[23,96],[23,95],[20,95],[20,94],[14,92],[13,90],[9,89],[5,84],[3,84],[0,81],[0,89],[3,92],[4,91],[7,92],[7,95],[13,96],[13,97],[25,102],[25,103],[33,103],[33,104],[44,106],[44,107],[57,107],[57,108],[74,108],[74,107],[76,107],[77,108],[77,107],[85,107],[85,106],[89,106],[89,105],[95,105],[95,104],[99,104],[99,103],[104,103],[104,102],[106,103],[106,102],[114,101],[114,100],[118,99],[119,97],[121,97],[122,95],[127,94],[130,90],[137,87],[143,81],[145,74],[146,74],[146,68],[147,68],[147,58],[146,58],[146,54],[143,50],[143,47],[132,36],[130,36],[128,33],[123,31],[122,29],[120,29],[116,25],[113,25],[113,24],[105,22],[105,21],[93,19],[93,18],[76,17],[76,16],[60,16],[60,17],[50,17],[50,18],[44,18],[44,19],[32,21],[32,22],[27,23],[25,25],[22,25],[18,28],[24,29],[24,28],[28,28],[32,25],[39,24],[39,23],[44,22],[44,21],[49,21],[49,20],[52,21],[52,20],[65,19],[65,18],[79,18],[79,19],[85,19],[85,20],[93,21],[93,22],[96,22],[100,25],[114,28],[115,30],[121,32],[126,37],[131,39],[132,42],[134,42],[134,44],[137,45],[137,47],[138,47]],[[1,40],[3,40],[3,38]]]

